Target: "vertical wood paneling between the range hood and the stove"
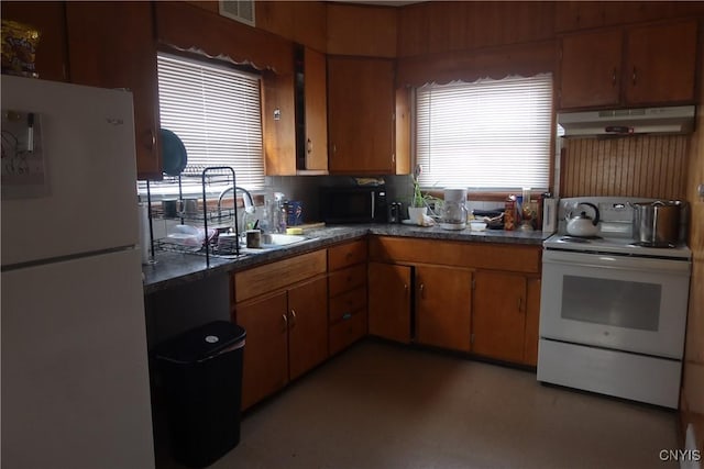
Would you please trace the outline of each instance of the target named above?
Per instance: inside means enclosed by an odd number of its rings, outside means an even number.
[[[689,141],[686,135],[569,139],[560,197],[685,199]]]

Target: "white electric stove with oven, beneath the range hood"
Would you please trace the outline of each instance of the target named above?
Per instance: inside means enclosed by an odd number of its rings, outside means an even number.
[[[570,198],[543,242],[538,380],[676,409],[691,249],[634,242],[634,202]],[[598,208],[596,236],[566,234],[565,217]]]

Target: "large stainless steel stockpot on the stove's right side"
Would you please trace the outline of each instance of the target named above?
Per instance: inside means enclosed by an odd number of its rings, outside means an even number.
[[[680,200],[635,202],[634,238],[646,246],[669,247],[680,237],[680,216],[683,202]]]

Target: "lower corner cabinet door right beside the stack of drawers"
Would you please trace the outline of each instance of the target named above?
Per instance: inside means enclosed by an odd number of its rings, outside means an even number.
[[[408,266],[370,263],[370,334],[405,344],[410,342],[410,275]]]

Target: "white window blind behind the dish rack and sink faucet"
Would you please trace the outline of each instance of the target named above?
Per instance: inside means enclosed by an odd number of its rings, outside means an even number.
[[[229,166],[238,186],[262,189],[260,78],[166,54],[158,54],[157,65],[161,123],[186,146],[184,172]]]

